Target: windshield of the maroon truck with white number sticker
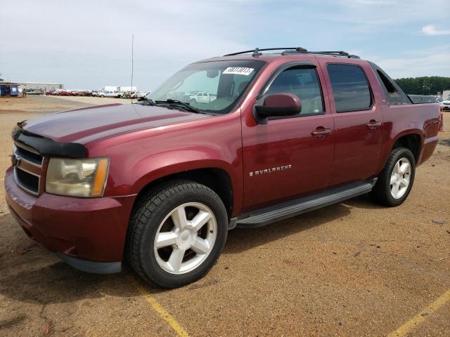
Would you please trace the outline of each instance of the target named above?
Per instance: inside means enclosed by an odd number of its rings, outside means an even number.
[[[264,62],[226,60],[188,65],[146,96],[153,101],[179,100],[203,112],[233,109]]]

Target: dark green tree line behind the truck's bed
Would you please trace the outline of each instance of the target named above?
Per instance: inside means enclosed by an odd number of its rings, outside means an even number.
[[[436,95],[444,90],[450,90],[450,77],[408,77],[395,80],[406,94]]]

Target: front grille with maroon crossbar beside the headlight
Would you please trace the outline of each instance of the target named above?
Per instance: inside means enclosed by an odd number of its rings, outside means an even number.
[[[43,158],[32,147],[21,143],[14,145],[15,183],[30,194],[39,195]]]

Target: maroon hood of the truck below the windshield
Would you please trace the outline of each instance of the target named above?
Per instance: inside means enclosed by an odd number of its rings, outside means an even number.
[[[25,131],[57,142],[86,144],[117,133],[209,117],[169,107],[112,104],[48,114],[21,125]]]

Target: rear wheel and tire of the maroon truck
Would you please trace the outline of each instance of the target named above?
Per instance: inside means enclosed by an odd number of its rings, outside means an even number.
[[[411,192],[416,174],[416,160],[405,147],[392,150],[385,168],[378,176],[371,198],[385,206],[399,206]]]

